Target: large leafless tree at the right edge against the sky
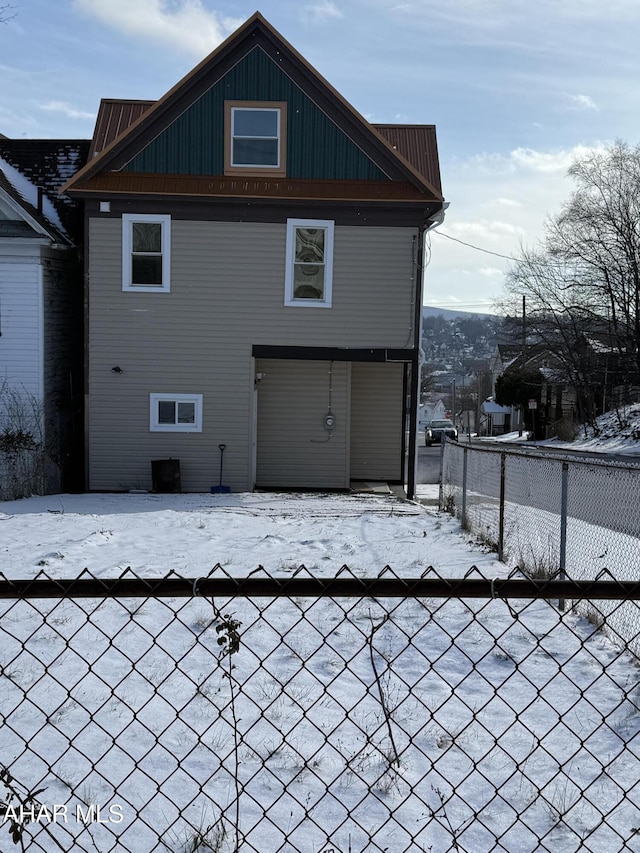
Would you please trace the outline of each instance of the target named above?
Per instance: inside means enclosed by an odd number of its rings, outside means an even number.
[[[640,146],[591,152],[569,175],[575,191],[507,291],[526,295],[527,341],[553,354],[593,420],[614,387],[640,385]]]

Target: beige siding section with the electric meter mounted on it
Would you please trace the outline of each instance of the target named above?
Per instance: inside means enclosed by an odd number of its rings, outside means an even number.
[[[257,485],[349,486],[349,368],[346,362],[260,359]],[[335,427],[324,427],[329,410]]]

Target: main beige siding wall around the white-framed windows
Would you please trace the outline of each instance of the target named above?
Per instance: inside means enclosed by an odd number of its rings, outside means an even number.
[[[170,293],[122,291],[121,234],[90,220],[92,489],[149,488],[150,461],[172,456],[184,490],[208,490],[221,442],[226,484],[250,488],[254,344],[412,345],[413,229],[337,227],[322,311],[284,305],[284,223],[173,220]],[[152,392],[203,394],[202,433],[150,433]]]

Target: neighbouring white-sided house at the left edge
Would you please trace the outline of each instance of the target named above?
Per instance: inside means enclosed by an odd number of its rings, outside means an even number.
[[[88,146],[0,138],[0,431],[37,433],[48,491],[82,487],[82,212],[58,193]]]

